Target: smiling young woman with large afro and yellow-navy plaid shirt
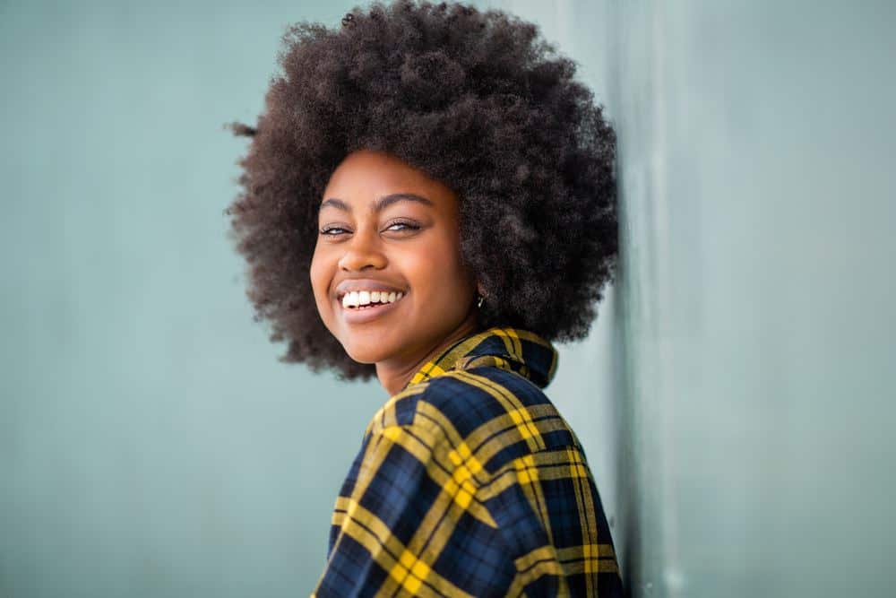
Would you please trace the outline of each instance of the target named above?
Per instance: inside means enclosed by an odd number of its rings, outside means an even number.
[[[373,4],[284,39],[228,208],[285,361],[391,395],[314,594],[622,594],[543,393],[616,264],[615,137],[536,26]],[[313,299],[313,300],[312,300]]]

